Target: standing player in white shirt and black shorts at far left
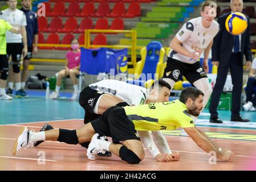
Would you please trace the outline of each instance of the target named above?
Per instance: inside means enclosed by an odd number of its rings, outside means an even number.
[[[21,71],[21,56],[26,57],[27,55],[26,15],[23,11],[17,9],[17,0],[8,0],[7,4],[9,8],[2,11],[3,19],[9,22],[13,27],[21,29],[21,34],[6,32],[7,56],[8,59],[11,56],[11,63],[13,65],[13,68],[10,69],[10,73],[13,72],[15,81],[15,97],[26,97],[26,93],[21,89],[21,74],[19,73]],[[6,94],[9,96],[13,95],[13,82],[9,82],[9,88]]]

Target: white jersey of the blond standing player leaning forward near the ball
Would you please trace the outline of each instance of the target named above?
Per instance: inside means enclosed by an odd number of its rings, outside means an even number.
[[[216,22],[216,20],[213,20],[208,28],[202,26],[201,21],[201,16],[189,20],[176,34],[176,38],[182,42],[182,46],[189,52],[204,52],[206,47],[208,47],[214,36],[216,36],[220,30],[220,25],[218,22]],[[193,64],[197,61],[191,59],[190,57],[181,55],[174,50],[170,51],[169,57],[189,64]]]

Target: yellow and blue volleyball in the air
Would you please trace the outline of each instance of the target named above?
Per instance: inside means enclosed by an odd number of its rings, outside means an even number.
[[[242,13],[232,13],[227,16],[225,26],[232,35],[242,34],[247,28],[247,18]]]

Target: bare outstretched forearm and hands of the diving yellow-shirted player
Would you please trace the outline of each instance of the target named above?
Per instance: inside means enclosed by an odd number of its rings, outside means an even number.
[[[184,128],[186,133],[191,137],[197,145],[202,148],[205,152],[209,153],[214,151],[217,154],[217,158],[221,160],[231,160],[233,157],[233,152],[230,150],[222,150],[221,148],[216,148],[204,135],[202,135],[196,127],[186,127]]]

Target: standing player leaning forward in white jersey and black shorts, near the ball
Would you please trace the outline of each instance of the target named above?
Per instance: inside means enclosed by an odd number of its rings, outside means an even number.
[[[180,75],[204,93],[206,106],[212,88],[208,77],[208,57],[212,48],[213,38],[219,30],[219,24],[214,20],[217,5],[213,1],[202,3],[201,16],[189,20],[170,42],[172,51],[168,55],[167,66],[163,79],[173,88]],[[201,66],[198,58],[204,52],[204,62]],[[195,117],[197,118],[197,117]],[[181,130],[181,135],[186,135]]]

